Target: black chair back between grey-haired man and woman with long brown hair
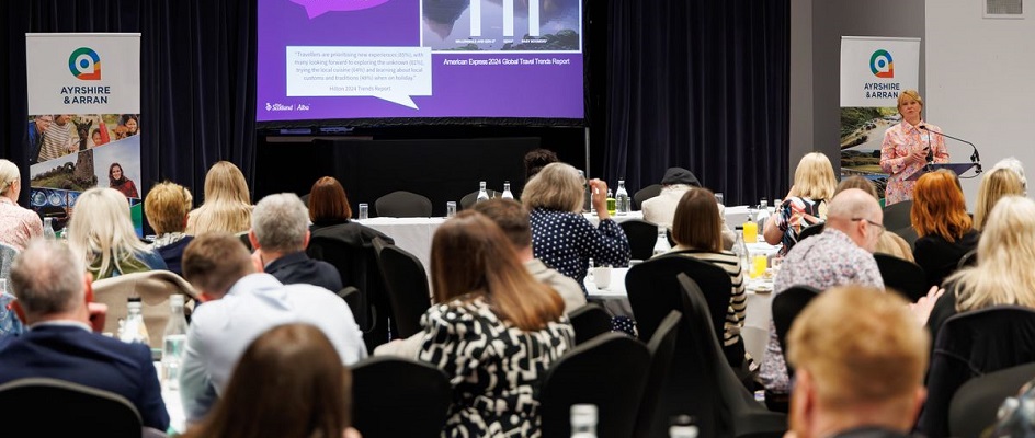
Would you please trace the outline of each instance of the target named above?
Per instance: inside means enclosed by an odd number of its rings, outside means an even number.
[[[431,307],[424,266],[413,254],[380,239],[374,240],[374,252],[388,291],[393,326],[398,330],[395,333],[403,338],[420,333],[421,315]]]

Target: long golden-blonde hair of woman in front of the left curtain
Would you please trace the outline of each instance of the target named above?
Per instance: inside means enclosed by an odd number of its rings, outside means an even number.
[[[186,233],[248,231],[251,227],[251,195],[244,174],[229,161],[213,164],[205,175],[205,201],[187,215]]]

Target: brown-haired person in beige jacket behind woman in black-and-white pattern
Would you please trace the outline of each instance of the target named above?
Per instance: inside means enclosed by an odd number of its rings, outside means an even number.
[[[485,215],[503,230],[503,235],[514,245],[518,260],[528,269],[528,274],[560,295],[565,300],[565,314],[585,306],[585,296],[578,283],[546,267],[532,254],[532,226],[528,210],[524,206],[513,199],[489,199],[475,204],[474,210]]]

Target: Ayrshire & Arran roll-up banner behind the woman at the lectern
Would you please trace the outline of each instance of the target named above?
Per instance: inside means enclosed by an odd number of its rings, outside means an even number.
[[[898,95],[920,87],[920,38],[841,37],[841,177],[862,175],[884,196],[884,131],[901,122]]]

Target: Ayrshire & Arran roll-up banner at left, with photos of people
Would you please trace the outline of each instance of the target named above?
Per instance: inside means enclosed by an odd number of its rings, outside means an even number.
[[[140,203],[140,34],[25,34],[32,208],[67,218],[79,194]]]

